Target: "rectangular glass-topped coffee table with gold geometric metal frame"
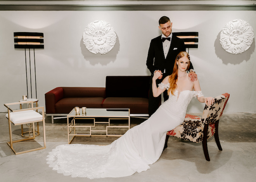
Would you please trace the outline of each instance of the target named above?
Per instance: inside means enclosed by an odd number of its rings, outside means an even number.
[[[108,121],[96,121],[96,118],[108,118]],[[91,119],[93,122],[88,125],[81,122],[82,119]],[[121,120],[126,119],[128,121],[127,126],[116,126],[111,124],[111,120]],[[106,124],[106,129],[96,130],[96,124]],[[87,129],[86,133],[76,132],[78,129]],[[80,108],[79,114],[72,109],[67,115],[67,138],[68,144],[72,142],[75,136],[122,136],[123,134],[109,134],[109,128],[127,128],[130,129],[130,109],[104,109],[104,108],[86,108],[86,113],[82,114],[82,109]],[[104,134],[92,134],[101,132]],[[106,134],[105,134],[106,133]],[[70,139],[70,137],[72,137]]]

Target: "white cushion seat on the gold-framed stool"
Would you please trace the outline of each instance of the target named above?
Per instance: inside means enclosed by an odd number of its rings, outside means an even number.
[[[8,119],[8,113],[5,115]],[[10,112],[10,121],[14,125],[31,123],[33,121],[42,120],[43,116],[34,110]]]

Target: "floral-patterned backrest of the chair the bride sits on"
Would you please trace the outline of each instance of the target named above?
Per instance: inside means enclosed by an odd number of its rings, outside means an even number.
[[[219,95],[214,98],[213,105],[205,105],[204,112],[202,114],[202,123],[211,124],[220,119],[228,102],[229,95],[230,94],[228,93]]]

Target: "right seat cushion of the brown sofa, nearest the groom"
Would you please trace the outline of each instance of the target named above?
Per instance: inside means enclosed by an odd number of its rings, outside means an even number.
[[[103,108],[130,108],[130,114],[148,114],[149,99],[138,97],[107,97]]]

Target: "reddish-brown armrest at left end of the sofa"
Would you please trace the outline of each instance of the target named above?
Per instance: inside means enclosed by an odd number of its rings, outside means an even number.
[[[55,104],[63,99],[64,92],[62,87],[54,88],[45,94],[45,112],[47,114],[55,113]]]

